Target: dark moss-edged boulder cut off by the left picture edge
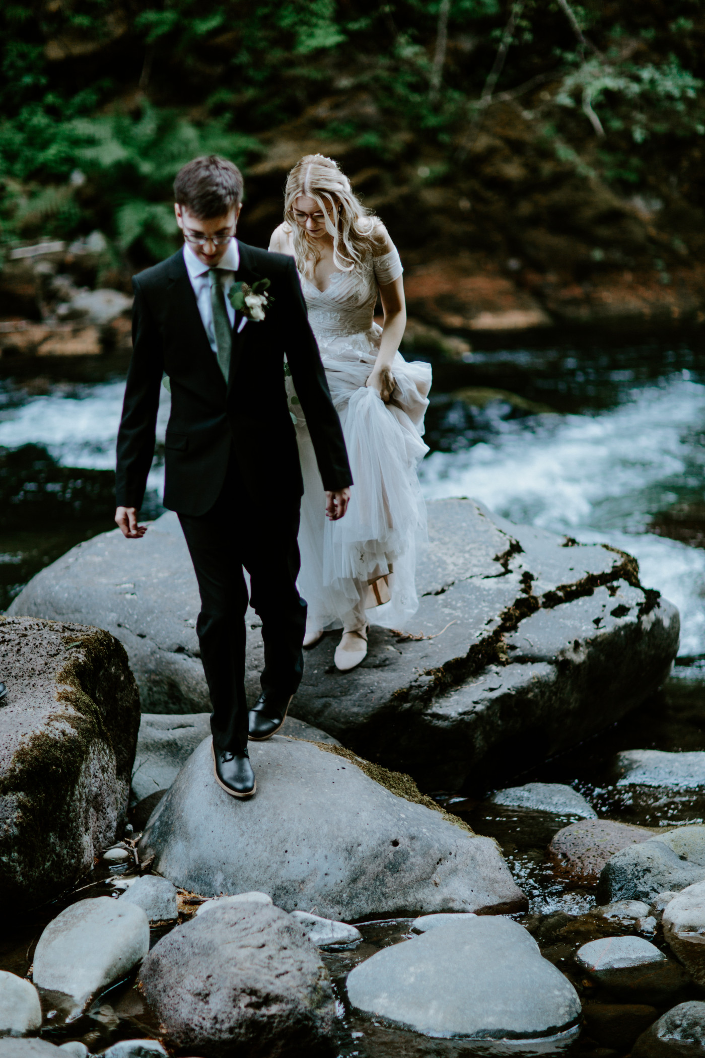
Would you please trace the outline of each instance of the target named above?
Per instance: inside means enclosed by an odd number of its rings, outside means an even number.
[[[140,698],[108,632],[0,618],[0,893],[55,897],[125,822]]]

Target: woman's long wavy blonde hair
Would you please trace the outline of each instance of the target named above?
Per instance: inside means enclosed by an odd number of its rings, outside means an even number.
[[[299,272],[304,273],[310,261],[315,268],[320,257],[316,240],[309,239],[305,229],[294,218],[294,202],[301,195],[314,199],[320,206],[326,231],[333,237],[335,267],[340,272],[360,268],[367,252],[373,248],[377,218],[353,193],[337,162],[323,154],[307,154],[289,174],[284,189],[284,221],[292,231]]]

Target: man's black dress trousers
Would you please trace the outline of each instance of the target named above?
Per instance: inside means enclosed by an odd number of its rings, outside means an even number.
[[[296,588],[299,506],[297,497],[290,497],[283,504],[278,499],[276,511],[262,511],[230,459],[214,507],[198,516],[179,515],[201,594],[196,631],[214,710],[214,745],[220,750],[247,748],[243,566],[252,605],[262,620],[262,690],[292,695],[303,675],[307,604]]]

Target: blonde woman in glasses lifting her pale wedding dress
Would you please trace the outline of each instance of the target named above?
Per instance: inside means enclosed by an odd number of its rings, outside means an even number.
[[[284,222],[270,250],[296,259],[354,485],[345,518],[327,522],[323,485],[287,372],[290,412],[303,473],[298,587],[309,603],[305,647],[342,627],[341,671],[367,654],[367,612],[398,627],[419,606],[416,545],[426,509],[416,466],[431,368],[397,351],[406,326],[402,262],[382,222],[364,208],[338,165],[308,154],[286,180]],[[384,326],[373,322],[377,294]]]

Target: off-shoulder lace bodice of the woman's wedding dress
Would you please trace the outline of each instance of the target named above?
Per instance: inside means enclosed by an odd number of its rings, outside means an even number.
[[[337,338],[370,331],[379,285],[393,282],[403,271],[398,252],[393,247],[379,257],[373,257],[369,252],[361,269],[334,272],[326,290],[318,290],[302,276],[309,323],[318,345],[324,346]]]

